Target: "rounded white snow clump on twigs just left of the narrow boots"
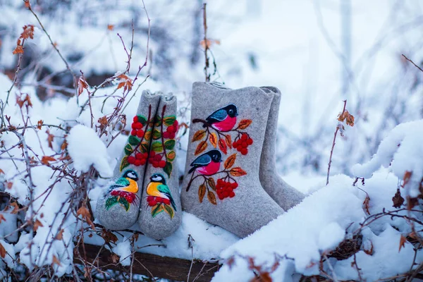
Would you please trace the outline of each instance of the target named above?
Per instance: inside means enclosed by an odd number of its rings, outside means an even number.
[[[106,146],[92,128],[75,125],[66,140],[69,155],[73,159],[73,166],[78,171],[87,172],[91,166],[94,166],[100,176],[104,178],[113,176]]]

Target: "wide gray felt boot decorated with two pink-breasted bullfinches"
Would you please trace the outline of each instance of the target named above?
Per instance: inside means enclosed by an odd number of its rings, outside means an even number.
[[[259,182],[258,160],[273,95],[259,87],[192,86],[182,206],[241,238],[283,214]]]

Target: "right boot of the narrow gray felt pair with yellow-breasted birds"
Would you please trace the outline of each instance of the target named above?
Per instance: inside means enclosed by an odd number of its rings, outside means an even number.
[[[175,232],[182,220],[175,148],[177,130],[176,97],[161,96],[138,218],[142,233],[158,240]]]

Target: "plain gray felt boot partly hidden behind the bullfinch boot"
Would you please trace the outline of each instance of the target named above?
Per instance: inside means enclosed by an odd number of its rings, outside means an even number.
[[[278,128],[279,105],[281,92],[276,87],[260,87],[268,93],[274,94],[271,103],[269,119],[267,120],[266,135],[264,137],[262,157],[260,159],[260,183],[264,190],[284,210],[288,210],[300,203],[305,195],[296,190],[276,173],[276,130]]]

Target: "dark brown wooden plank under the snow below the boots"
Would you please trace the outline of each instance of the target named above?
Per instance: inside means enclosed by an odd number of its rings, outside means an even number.
[[[118,271],[130,271],[129,266],[122,266],[112,261],[112,253],[105,248],[96,245],[80,245],[78,250],[82,257],[86,257],[87,262],[94,264],[102,270],[112,269]],[[97,261],[94,262],[94,259]],[[75,264],[81,264],[80,258],[75,256]],[[94,262],[94,263],[93,263]],[[150,277],[167,278],[174,281],[187,281],[190,272],[191,261],[188,259],[177,259],[174,257],[160,257],[158,255],[135,252],[133,264],[133,274],[142,274]],[[195,259],[192,263],[190,281],[210,281],[214,272],[219,270],[217,262],[202,262]]]

